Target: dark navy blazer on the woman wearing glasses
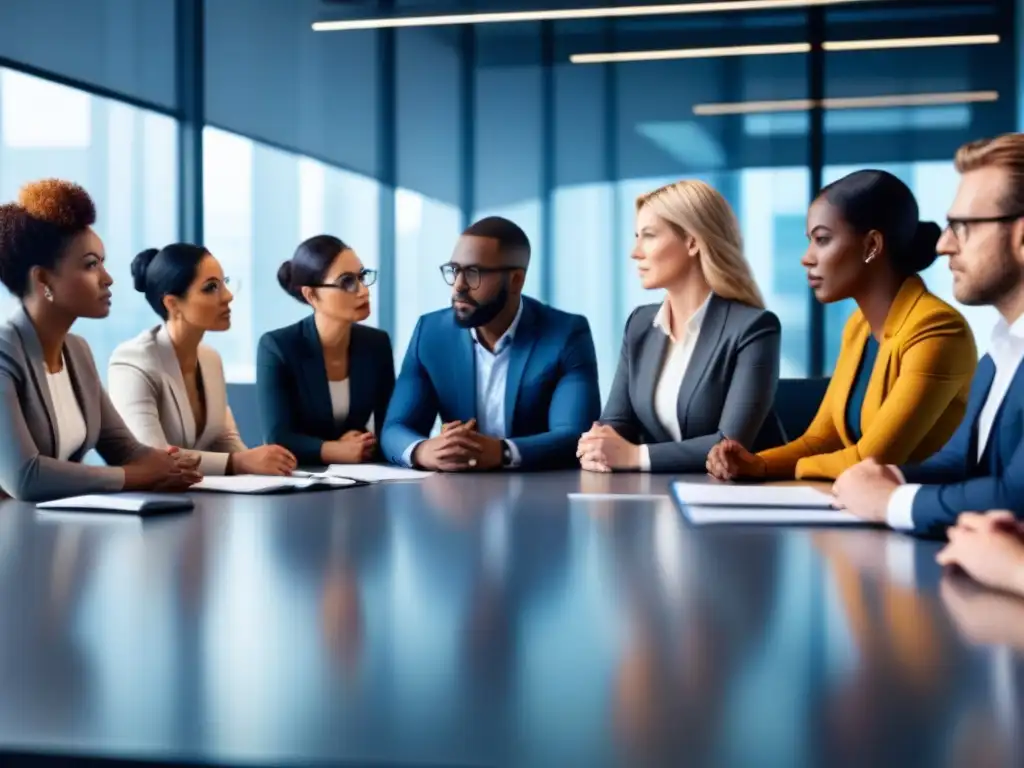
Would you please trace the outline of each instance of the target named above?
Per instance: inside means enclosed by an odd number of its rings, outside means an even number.
[[[334,419],[324,349],[313,316],[263,334],[256,352],[256,396],[263,439],[283,445],[299,464],[322,464],[321,447],[367,427],[378,434],[394,390],[391,339],[384,331],[352,326],[348,348],[348,418]]]

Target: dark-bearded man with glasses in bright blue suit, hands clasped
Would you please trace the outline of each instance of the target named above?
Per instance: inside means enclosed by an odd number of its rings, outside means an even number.
[[[529,241],[498,216],[440,267],[452,309],[420,317],[381,434],[385,456],[429,470],[554,469],[601,410],[585,317],[522,296]],[[440,434],[429,437],[440,416]]]

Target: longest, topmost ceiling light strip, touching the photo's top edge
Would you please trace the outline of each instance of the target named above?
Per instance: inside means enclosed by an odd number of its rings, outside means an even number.
[[[667,5],[623,5],[609,8],[563,8],[557,10],[513,10],[490,13],[446,13],[390,18],[348,18],[338,22],[314,22],[313,32],[384,30],[399,27],[445,27],[463,24],[510,24],[515,22],[565,22],[579,18],[628,18],[631,16],[668,16],[680,13],[718,13],[722,11],[808,8],[823,5],[853,5],[880,0],[718,0],[702,3]]]

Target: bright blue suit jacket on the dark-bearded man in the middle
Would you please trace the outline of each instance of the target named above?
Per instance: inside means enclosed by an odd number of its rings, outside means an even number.
[[[580,434],[601,410],[597,358],[587,318],[522,297],[505,388],[505,423],[522,469],[575,463]],[[425,439],[434,420],[476,416],[476,358],[451,309],[420,317],[395,385],[381,445],[389,461]]]

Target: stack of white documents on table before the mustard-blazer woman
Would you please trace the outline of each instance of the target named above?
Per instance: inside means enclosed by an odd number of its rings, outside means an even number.
[[[671,484],[679,511],[694,525],[715,523],[760,525],[867,525],[867,521],[833,507],[821,487],[797,483]]]

